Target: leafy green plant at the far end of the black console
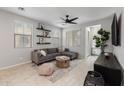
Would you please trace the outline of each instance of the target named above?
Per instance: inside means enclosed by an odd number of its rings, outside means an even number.
[[[101,47],[101,52],[104,53],[104,49],[107,46],[106,41],[109,40],[110,32],[101,28],[97,33],[98,35],[95,35],[93,40],[96,40],[96,47]]]

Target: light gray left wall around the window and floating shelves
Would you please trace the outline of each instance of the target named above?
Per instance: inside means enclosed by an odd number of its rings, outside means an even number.
[[[14,21],[20,20],[34,25],[33,31],[33,47],[32,48],[14,48]],[[46,28],[52,30],[51,36],[60,37],[59,41],[51,39],[51,45],[37,45],[39,33],[35,28],[38,21],[26,17],[15,15],[0,10],[0,68],[10,65],[20,64],[31,60],[31,51],[37,48],[60,47],[61,46],[61,30],[59,28],[45,25]]]

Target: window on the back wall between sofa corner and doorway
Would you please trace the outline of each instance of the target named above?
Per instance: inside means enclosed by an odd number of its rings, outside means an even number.
[[[80,46],[80,31],[67,31],[66,32],[66,45],[68,47]]]

